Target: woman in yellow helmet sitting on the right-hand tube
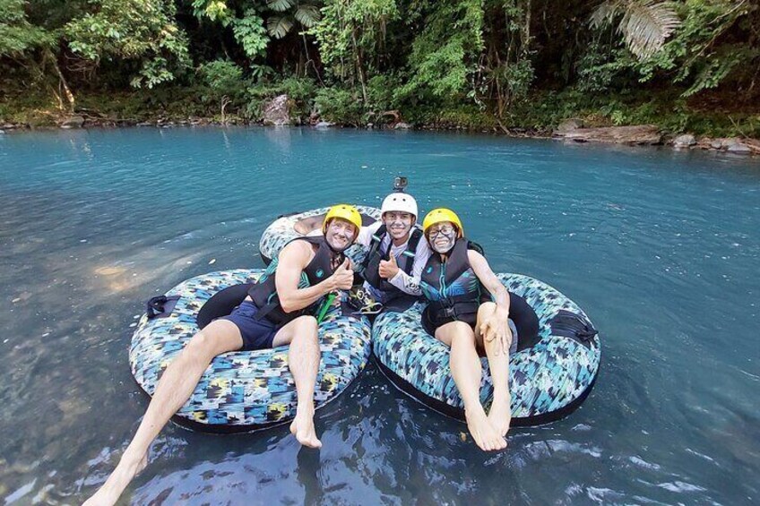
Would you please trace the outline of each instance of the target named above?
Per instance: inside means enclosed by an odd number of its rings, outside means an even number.
[[[509,293],[488,266],[480,247],[464,236],[462,220],[453,210],[431,210],[422,228],[433,251],[420,280],[429,303],[422,313],[422,324],[451,348],[453,381],[462,396],[473,439],[482,450],[503,450],[512,417]],[[480,403],[479,349],[488,356],[494,383],[488,415]]]

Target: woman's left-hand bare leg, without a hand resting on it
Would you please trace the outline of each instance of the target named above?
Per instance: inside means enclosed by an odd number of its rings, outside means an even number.
[[[480,404],[480,358],[475,350],[475,334],[464,322],[450,322],[436,330],[436,338],[451,346],[453,381],[464,401],[467,429],[481,450],[503,450],[505,439],[488,422]]]

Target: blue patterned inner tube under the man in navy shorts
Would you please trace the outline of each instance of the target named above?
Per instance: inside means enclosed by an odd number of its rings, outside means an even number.
[[[263,270],[228,270],[188,279],[167,292],[179,296],[168,316],[143,315],[132,338],[129,364],[149,395],[167,365],[198,331],[196,317],[220,290],[253,283]],[[335,399],[367,364],[370,325],[366,317],[343,316],[333,307],[319,325],[322,359],[315,407]],[[177,412],[179,425],[205,432],[249,432],[279,425],[296,415],[296,387],[288,368],[288,347],[217,356],[193,395]]]

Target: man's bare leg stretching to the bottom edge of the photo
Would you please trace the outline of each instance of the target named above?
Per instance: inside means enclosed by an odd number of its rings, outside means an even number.
[[[190,339],[185,349],[168,364],[161,376],[151,404],[117,468],[99,491],[84,503],[85,506],[117,502],[126,485],[147,465],[147,452],[151,442],[167,425],[169,418],[190,398],[213,357],[242,346],[243,339],[238,327],[226,320],[210,323]]]

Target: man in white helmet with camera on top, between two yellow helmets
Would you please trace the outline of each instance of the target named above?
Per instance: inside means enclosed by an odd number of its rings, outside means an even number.
[[[406,177],[397,177],[393,193],[380,208],[382,219],[362,227],[357,243],[369,248],[359,271],[365,288],[390,311],[405,311],[421,295],[419,279],[430,248],[417,224],[417,202],[404,192]]]

